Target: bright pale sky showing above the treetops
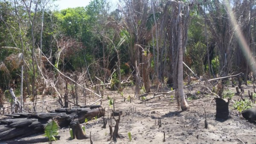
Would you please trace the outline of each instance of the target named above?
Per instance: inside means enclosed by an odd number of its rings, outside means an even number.
[[[118,0],[107,0],[107,2],[112,3],[110,6],[116,6]],[[85,7],[90,3],[90,0],[57,0],[54,3],[55,5],[58,5],[59,10],[62,10],[79,6]]]

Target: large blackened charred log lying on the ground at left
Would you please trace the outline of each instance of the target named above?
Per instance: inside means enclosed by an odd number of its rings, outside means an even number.
[[[95,116],[99,118],[104,115],[105,109],[102,107],[95,109],[90,109],[90,107],[60,108],[49,113],[15,113],[6,115],[11,116],[11,118],[0,120],[0,141],[44,132],[44,125],[51,118],[55,118],[59,122],[60,127],[67,127],[75,116],[79,123],[84,123],[85,118],[90,120]]]

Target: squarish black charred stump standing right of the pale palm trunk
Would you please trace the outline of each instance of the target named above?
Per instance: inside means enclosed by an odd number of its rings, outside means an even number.
[[[229,118],[229,109],[228,104],[229,100],[226,102],[224,99],[215,98],[216,101],[216,115],[215,120],[217,121],[225,121]]]

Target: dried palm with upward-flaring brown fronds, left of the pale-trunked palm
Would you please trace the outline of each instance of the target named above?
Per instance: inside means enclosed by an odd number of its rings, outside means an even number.
[[[125,7],[123,14],[125,17],[125,29],[128,32],[126,41],[128,42],[128,54],[131,59],[131,65],[135,69],[136,89],[135,97],[139,97],[140,91],[140,72],[141,72],[141,57],[145,45],[151,40],[150,31],[146,30],[146,22],[148,18],[148,1],[147,0],[123,0]],[[136,68],[137,63],[137,68]],[[148,69],[145,64],[142,65],[144,69]],[[145,72],[145,71],[144,71]],[[143,82],[147,83],[149,77],[143,74]],[[147,92],[150,92],[150,85],[144,84]]]

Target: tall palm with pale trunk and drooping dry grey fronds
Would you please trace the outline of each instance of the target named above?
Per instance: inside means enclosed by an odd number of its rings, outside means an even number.
[[[169,9],[169,6],[172,9]],[[166,26],[169,40],[169,65],[172,72],[172,81],[178,89],[178,107],[180,105],[182,110],[189,109],[183,90],[183,49],[185,49],[187,43],[188,20],[189,6],[187,4],[173,0],[166,3],[163,23]]]

